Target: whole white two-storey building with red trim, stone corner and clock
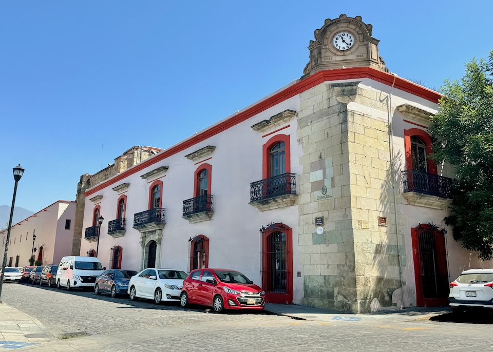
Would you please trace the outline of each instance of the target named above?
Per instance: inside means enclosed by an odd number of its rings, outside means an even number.
[[[492,263],[444,225],[453,171],[426,158],[440,95],[389,72],[371,29],[327,19],[300,80],[89,188],[81,255],[238,269],[275,303],[446,304]]]

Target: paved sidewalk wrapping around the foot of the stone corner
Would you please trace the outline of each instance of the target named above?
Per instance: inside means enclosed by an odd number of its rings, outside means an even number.
[[[328,322],[331,320],[362,321],[362,322],[404,322],[413,320],[429,320],[432,317],[450,313],[449,307],[415,307],[407,309],[386,310],[369,314],[348,314],[335,310],[318,309],[296,304],[267,303],[266,310],[274,314],[294,319]]]

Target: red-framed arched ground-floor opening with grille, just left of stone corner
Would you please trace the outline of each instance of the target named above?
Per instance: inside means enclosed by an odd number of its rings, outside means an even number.
[[[269,224],[260,229],[262,288],[270,303],[293,302],[293,239],[292,229]]]

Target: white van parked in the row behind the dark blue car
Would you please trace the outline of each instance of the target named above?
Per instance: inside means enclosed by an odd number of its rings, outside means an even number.
[[[95,257],[63,257],[56,271],[56,288],[94,287],[103,266]]]

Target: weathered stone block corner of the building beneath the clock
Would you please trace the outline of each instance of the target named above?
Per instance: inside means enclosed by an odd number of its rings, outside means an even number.
[[[376,91],[358,82],[324,83],[301,94],[298,244],[305,296],[300,304],[366,312],[375,299],[392,306],[401,287],[394,178],[387,123],[352,111],[351,104],[381,115],[387,108]],[[324,218],[321,234],[316,217]],[[387,227],[378,226],[378,217],[387,218]]]

